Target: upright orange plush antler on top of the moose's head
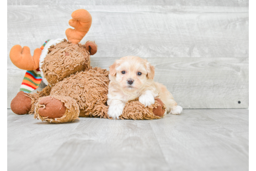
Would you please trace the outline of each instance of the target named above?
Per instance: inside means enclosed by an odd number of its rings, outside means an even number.
[[[92,24],[92,17],[84,9],[74,11],[71,16],[73,19],[69,20],[69,25],[75,29],[68,28],[66,30],[66,36],[73,44],[78,44],[89,31]]]

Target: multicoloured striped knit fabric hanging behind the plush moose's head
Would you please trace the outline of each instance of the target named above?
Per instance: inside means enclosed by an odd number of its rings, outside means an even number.
[[[46,42],[44,42],[40,49],[43,50],[44,46],[49,41],[50,40],[47,40]],[[41,77],[41,71],[39,68],[33,71],[27,71],[22,81],[20,91],[23,91],[25,93],[30,93],[36,90],[40,86],[41,81],[42,81],[42,77]]]

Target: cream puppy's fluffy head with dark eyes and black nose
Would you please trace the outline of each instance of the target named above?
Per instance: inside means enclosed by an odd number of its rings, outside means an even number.
[[[110,80],[126,91],[142,88],[149,79],[154,79],[155,67],[137,56],[125,56],[110,66]]]

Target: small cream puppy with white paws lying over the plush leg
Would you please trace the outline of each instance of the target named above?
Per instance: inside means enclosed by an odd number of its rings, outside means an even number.
[[[160,83],[154,82],[155,67],[147,60],[137,56],[126,56],[110,66],[110,84],[108,86],[108,115],[119,119],[125,103],[139,97],[140,103],[150,106],[159,96],[167,107],[167,113],[180,114],[181,106],[177,106],[171,93]]]

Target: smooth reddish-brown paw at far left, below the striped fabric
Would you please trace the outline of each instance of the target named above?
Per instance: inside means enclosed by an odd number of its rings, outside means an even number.
[[[18,92],[11,102],[11,109],[17,115],[25,115],[29,113],[32,107],[31,99],[23,91]]]

